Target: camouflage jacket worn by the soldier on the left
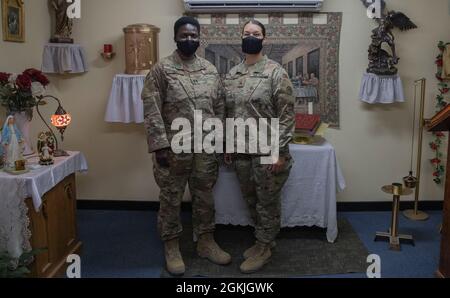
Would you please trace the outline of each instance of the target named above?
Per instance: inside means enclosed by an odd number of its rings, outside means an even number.
[[[224,94],[217,69],[207,60],[195,57],[183,62],[175,51],[162,59],[147,75],[142,90],[144,124],[148,151],[171,147],[172,121],[186,118],[194,131],[194,110],[201,110],[203,121],[223,120]]]

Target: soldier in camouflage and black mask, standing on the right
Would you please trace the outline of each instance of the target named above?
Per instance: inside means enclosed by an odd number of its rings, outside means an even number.
[[[279,159],[272,165],[261,164],[261,155],[226,154],[225,162],[234,163],[241,191],[253,222],[256,244],[244,252],[243,273],[261,269],[271,257],[271,248],[280,230],[281,189],[293,164],[289,143],[295,126],[293,86],[286,71],[263,56],[265,28],[257,21],[244,26],[242,49],[246,59],[226,77],[227,118],[278,118]],[[248,140],[247,140],[248,142]]]

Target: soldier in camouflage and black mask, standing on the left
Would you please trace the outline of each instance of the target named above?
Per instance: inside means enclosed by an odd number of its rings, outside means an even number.
[[[186,184],[192,195],[192,219],[194,232],[198,236],[198,254],[220,265],[230,263],[231,257],[213,237],[212,189],[218,175],[216,156],[206,153],[175,154],[171,150],[171,140],[177,133],[171,130],[174,119],[188,119],[192,128],[194,110],[202,111],[204,120],[211,117],[223,119],[223,89],[214,65],[195,55],[199,46],[199,23],[194,18],[183,17],[175,23],[174,31],[178,50],[151,69],[142,99],[148,148],[150,153],[155,153],[154,176],[160,187],[158,229],[165,243],[166,266],[170,273],[181,275],[185,265],[178,239],[182,232],[180,206]]]

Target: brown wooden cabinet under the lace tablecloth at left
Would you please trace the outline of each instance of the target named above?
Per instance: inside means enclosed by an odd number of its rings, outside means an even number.
[[[75,174],[66,177],[43,196],[39,212],[35,211],[31,199],[26,203],[31,245],[33,248],[46,248],[35,257],[32,276],[64,276],[67,256],[81,252],[77,236]]]

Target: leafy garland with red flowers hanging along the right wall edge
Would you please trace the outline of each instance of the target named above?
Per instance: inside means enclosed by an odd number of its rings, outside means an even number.
[[[439,48],[439,55],[436,57],[436,65],[437,65],[437,73],[436,78],[438,79],[438,87],[439,87],[439,94],[436,96],[436,111],[439,112],[443,108],[447,106],[447,101],[445,101],[446,94],[449,93],[449,84],[445,82],[442,79],[442,66],[443,66],[443,54],[446,45],[450,43],[444,43],[443,41],[440,41],[438,44]],[[442,176],[445,173],[445,166],[442,163],[442,143],[443,139],[445,138],[444,133],[442,132],[434,132],[433,136],[435,137],[434,141],[430,143],[430,148],[435,153],[435,157],[433,159],[430,159],[431,164],[433,165],[435,171],[433,173],[433,181],[436,184],[442,184]]]

